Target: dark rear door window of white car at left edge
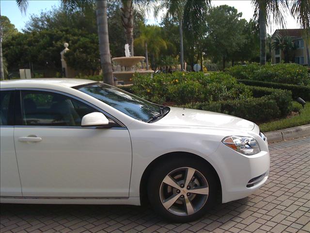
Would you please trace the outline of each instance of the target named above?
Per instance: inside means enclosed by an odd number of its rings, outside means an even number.
[[[0,91],[0,125],[13,125],[14,91]]]

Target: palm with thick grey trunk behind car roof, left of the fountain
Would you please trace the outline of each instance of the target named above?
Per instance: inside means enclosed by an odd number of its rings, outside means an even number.
[[[92,9],[96,3],[96,16],[99,37],[99,51],[103,81],[113,85],[112,63],[109,48],[107,0],[62,0],[64,8],[68,11]]]

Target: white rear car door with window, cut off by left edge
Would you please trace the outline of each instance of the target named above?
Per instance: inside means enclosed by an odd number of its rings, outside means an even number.
[[[14,92],[0,91],[0,196],[21,197],[14,147]]]

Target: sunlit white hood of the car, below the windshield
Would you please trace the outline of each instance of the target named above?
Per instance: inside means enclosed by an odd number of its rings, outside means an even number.
[[[170,107],[170,112],[154,124],[204,126],[245,131],[253,130],[255,126],[253,122],[235,116],[175,107]]]

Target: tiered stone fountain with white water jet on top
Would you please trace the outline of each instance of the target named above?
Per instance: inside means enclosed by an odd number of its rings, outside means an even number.
[[[154,73],[153,70],[135,69],[133,68],[139,62],[144,61],[145,57],[142,56],[130,56],[129,46],[125,44],[125,56],[112,58],[112,61],[119,64],[113,75],[117,78],[117,81],[123,81],[124,84],[132,84],[132,76],[134,73],[150,74]]]

